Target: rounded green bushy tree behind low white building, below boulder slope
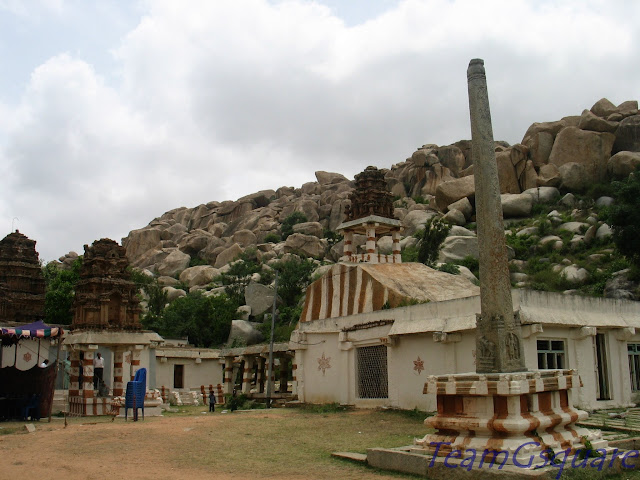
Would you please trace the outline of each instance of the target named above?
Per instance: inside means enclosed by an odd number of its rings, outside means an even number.
[[[152,328],[164,337],[187,337],[196,347],[212,347],[227,341],[237,310],[226,295],[205,297],[197,291],[174,300]]]

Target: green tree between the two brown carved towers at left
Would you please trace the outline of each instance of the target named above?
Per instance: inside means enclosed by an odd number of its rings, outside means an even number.
[[[43,267],[42,274],[46,283],[44,314],[47,323],[71,325],[71,306],[76,284],[80,279],[80,267],[82,257],[74,260],[70,270],[63,270],[57,262],[49,262]]]

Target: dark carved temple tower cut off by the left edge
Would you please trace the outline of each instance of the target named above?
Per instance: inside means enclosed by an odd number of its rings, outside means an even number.
[[[42,320],[44,296],[36,242],[16,230],[0,240],[0,320],[20,324]]]

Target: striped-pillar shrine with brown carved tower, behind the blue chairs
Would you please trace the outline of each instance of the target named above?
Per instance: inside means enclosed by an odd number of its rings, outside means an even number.
[[[127,271],[124,247],[110,239],[84,246],[73,302],[71,333],[65,339],[71,361],[69,411],[103,415],[126,382],[149,366],[149,346],[162,341],[140,325],[137,287]],[[94,358],[104,358],[103,382],[94,382]]]

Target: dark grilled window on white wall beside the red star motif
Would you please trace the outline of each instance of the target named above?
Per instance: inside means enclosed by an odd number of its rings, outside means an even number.
[[[360,347],[356,352],[358,398],[389,398],[387,347]]]

